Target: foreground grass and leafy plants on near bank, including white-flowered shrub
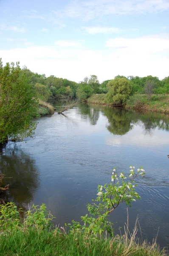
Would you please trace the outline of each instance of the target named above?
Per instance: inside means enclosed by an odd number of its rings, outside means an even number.
[[[135,171],[130,166],[130,175],[118,175],[113,169],[111,182],[99,185],[93,204],[87,204],[89,215],[82,216],[82,223],[72,221],[65,227],[54,227],[53,215],[42,204],[32,206],[20,218],[22,209],[14,203],[0,206],[0,255],[119,255],[119,256],[164,256],[156,242],[140,242],[128,224],[123,236],[114,236],[108,215],[121,203],[130,205],[141,197],[136,192],[135,180],[145,175],[143,168]],[[109,235],[108,235],[109,234]]]

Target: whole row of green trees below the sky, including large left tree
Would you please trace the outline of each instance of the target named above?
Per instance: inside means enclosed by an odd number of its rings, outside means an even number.
[[[51,97],[86,100],[96,93],[105,94],[105,103],[125,105],[135,93],[146,93],[149,99],[152,93],[169,93],[169,76],[163,80],[153,76],[116,76],[100,83],[96,75],[91,75],[76,83],[54,75],[46,77],[25,66],[20,68],[19,62],[3,66],[0,59],[0,143],[34,134],[36,124],[31,120],[38,98],[43,101]]]

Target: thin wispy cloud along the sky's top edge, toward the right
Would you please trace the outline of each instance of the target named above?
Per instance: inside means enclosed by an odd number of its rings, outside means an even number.
[[[56,20],[65,17],[91,20],[105,15],[156,13],[168,9],[169,0],[76,0],[53,13]]]

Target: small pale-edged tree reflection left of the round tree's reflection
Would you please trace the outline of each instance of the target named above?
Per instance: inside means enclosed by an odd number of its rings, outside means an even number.
[[[91,125],[96,125],[97,121],[99,119],[99,110],[95,106],[91,107],[87,104],[79,105],[80,112],[82,114],[82,117],[85,118],[87,116],[90,120]]]

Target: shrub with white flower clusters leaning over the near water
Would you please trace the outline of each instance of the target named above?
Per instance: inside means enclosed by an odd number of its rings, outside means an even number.
[[[116,169],[113,169],[111,182],[109,184],[99,185],[97,198],[93,204],[87,204],[87,209],[90,213],[82,216],[82,221],[85,223],[81,225],[79,222],[73,221],[71,229],[86,230],[89,233],[102,233],[107,230],[112,234],[112,224],[108,221],[108,216],[113,212],[121,203],[126,202],[130,205],[133,201],[141,199],[140,195],[135,192],[137,184],[135,180],[139,176],[144,176],[145,171],[142,167],[135,171],[135,166],[130,166],[130,175],[127,179],[124,173],[117,174]]]

